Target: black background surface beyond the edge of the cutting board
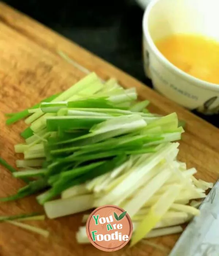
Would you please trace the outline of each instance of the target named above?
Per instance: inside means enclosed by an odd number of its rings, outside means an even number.
[[[4,0],[143,83],[142,15],[135,0]],[[219,127],[218,116],[195,114]]]

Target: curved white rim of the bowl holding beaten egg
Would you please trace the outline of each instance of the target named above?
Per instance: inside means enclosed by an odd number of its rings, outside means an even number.
[[[183,70],[173,65],[170,61],[168,61],[164,57],[164,55],[158,50],[158,48],[155,46],[155,43],[151,38],[150,31],[147,25],[148,25],[150,12],[159,1],[162,1],[162,0],[152,0],[149,3],[149,5],[147,6],[144,12],[143,20],[142,20],[143,36],[146,38],[147,43],[149,44],[151,50],[154,52],[155,56],[162,62],[162,64],[164,64],[169,70],[171,70],[175,74],[178,74],[183,80],[186,80],[192,83],[192,85],[195,85],[196,87],[201,87],[208,90],[210,89],[211,91],[219,92],[219,84],[210,83],[210,82],[198,79],[194,76],[191,76],[190,74],[187,74]]]

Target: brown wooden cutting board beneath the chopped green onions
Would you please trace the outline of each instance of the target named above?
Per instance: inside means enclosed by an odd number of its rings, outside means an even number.
[[[58,51],[95,71],[103,79],[116,77],[125,88],[136,87],[140,99],[149,99],[150,110],[160,114],[177,112],[187,122],[180,145],[179,160],[188,168],[198,170],[198,178],[215,182],[219,177],[219,130],[197,116],[177,106],[147,88],[144,84],[121,70],[82,49],[68,39],[61,37],[27,16],[0,3],[0,155],[10,164],[15,164],[13,145],[22,142],[20,131],[23,122],[5,126],[4,113],[30,107],[51,94],[69,88],[84,76],[84,73],[65,61]],[[15,194],[23,184],[13,179],[10,173],[0,167],[0,197]],[[34,197],[17,202],[1,203],[0,215],[30,213],[42,210]],[[31,224],[48,229],[48,239],[11,226],[0,224],[1,256],[94,256],[106,255],[92,245],[78,245],[76,231],[81,214]],[[120,251],[114,256],[164,256],[173,248],[178,235],[148,240],[164,251],[154,249],[145,242]]]

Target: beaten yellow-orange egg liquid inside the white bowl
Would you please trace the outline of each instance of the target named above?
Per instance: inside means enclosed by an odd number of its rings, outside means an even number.
[[[177,68],[198,79],[219,84],[219,42],[200,35],[171,35],[155,42]]]

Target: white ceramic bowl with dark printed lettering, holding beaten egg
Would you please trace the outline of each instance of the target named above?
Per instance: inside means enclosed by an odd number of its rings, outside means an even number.
[[[154,41],[180,33],[205,35],[219,41],[218,24],[218,0],[153,0],[143,17],[146,76],[167,98],[204,114],[219,113],[219,85],[178,69],[160,53]]]

